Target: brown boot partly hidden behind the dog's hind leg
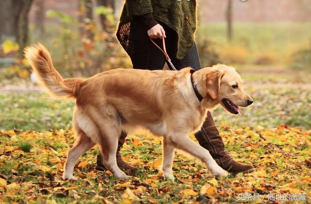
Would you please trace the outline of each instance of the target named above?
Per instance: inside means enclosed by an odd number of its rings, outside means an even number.
[[[122,160],[122,156],[120,154],[120,149],[123,146],[124,142],[125,142],[125,137],[127,136],[126,132],[122,131],[121,135],[119,137],[118,140],[118,149],[117,149],[117,165],[119,168],[123,168],[124,170],[127,171],[128,175],[133,175],[135,173],[135,171],[138,170],[137,167],[132,167],[131,165],[127,164],[126,162],[124,162]],[[107,170],[107,168],[104,166],[103,164],[103,156],[101,154],[97,155],[97,166],[96,169],[99,171],[105,171]]]

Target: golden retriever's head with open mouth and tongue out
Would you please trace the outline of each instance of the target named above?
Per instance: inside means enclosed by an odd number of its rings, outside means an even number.
[[[240,107],[253,103],[253,99],[245,93],[242,79],[234,68],[217,65],[203,70],[202,84],[206,100],[203,100],[202,105],[206,108],[220,104],[226,111],[241,115]]]

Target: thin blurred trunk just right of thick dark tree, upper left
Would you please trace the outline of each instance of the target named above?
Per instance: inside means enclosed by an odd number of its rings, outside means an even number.
[[[39,37],[44,35],[44,0],[35,0],[35,30]]]

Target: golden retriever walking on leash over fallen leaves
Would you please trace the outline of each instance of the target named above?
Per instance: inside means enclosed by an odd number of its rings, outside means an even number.
[[[143,127],[163,136],[163,171],[173,179],[175,148],[201,159],[213,175],[226,176],[208,150],[192,141],[189,134],[199,131],[207,111],[220,104],[233,114],[253,100],[243,90],[234,68],[217,65],[190,73],[180,71],[115,69],[90,78],[63,79],[52,65],[44,46],[25,49],[25,56],[48,93],[74,98],[73,130],[75,142],[69,149],[64,179],[75,180],[73,168],[79,157],[99,145],[104,165],[113,175],[128,179],[117,166],[116,151],[121,130]],[[194,92],[191,78],[203,100]]]

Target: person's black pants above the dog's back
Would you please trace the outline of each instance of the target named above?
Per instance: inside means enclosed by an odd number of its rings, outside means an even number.
[[[165,44],[168,55],[170,56],[173,65],[177,70],[186,67],[192,67],[194,70],[201,69],[200,59],[196,45],[194,43],[191,50],[182,59],[177,59],[176,55],[176,41],[177,34],[173,29],[159,22],[166,34]],[[130,56],[134,69],[149,69],[149,70],[162,70],[165,64],[165,56],[155,47],[150,41],[147,31],[139,20],[134,20],[131,27],[134,55]],[[154,39],[155,43],[162,48],[162,39]]]

